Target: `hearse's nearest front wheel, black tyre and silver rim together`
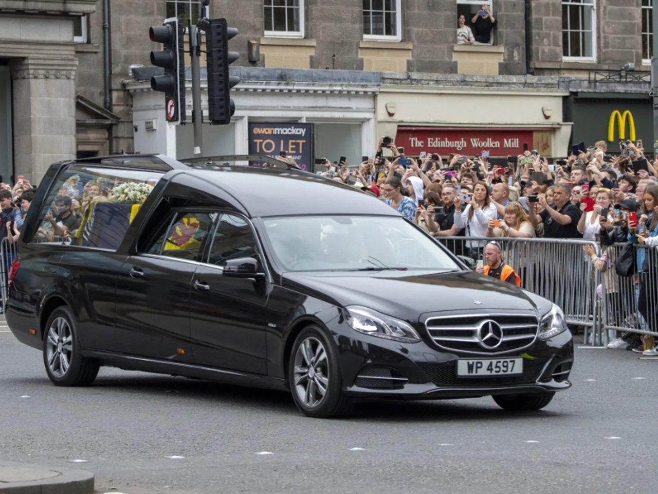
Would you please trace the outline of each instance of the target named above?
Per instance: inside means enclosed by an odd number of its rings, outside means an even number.
[[[305,327],[295,339],[288,382],[297,408],[307,417],[345,416],[353,408],[342,393],[338,352],[316,325]]]

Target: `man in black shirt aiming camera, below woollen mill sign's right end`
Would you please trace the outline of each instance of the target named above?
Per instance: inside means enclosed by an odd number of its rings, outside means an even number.
[[[530,223],[536,227],[544,223],[544,238],[582,238],[578,232],[580,209],[569,202],[571,190],[566,184],[555,186],[555,204],[549,206],[544,196],[539,196],[539,204],[544,211],[537,214],[537,203],[531,202]]]

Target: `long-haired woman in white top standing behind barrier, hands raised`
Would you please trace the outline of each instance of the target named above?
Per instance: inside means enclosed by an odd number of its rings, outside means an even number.
[[[455,197],[455,227],[457,231],[465,228],[466,236],[486,237],[489,222],[498,215],[489,196],[489,186],[484,182],[476,182],[473,187],[473,196],[464,211],[461,211],[462,202],[459,194]],[[486,245],[486,240],[467,240],[466,246],[470,249],[470,256],[480,256],[480,250]]]

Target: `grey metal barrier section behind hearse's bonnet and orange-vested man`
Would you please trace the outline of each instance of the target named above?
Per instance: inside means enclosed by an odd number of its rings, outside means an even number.
[[[603,273],[594,269],[583,246],[600,248],[594,240],[555,238],[474,238],[436,237],[451,252],[484,259],[484,246],[494,240],[501,247],[503,262],[521,277],[521,286],[557,304],[569,325],[584,327],[585,342],[607,344],[603,331],[603,303],[597,300],[597,287]],[[614,269],[614,267],[613,267]],[[591,336],[590,336],[591,335]]]

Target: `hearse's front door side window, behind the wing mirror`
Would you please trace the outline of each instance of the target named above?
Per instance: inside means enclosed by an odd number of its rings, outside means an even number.
[[[236,215],[222,215],[210,252],[209,263],[223,266],[238,258],[257,259],[256,241],[247,221]]]

